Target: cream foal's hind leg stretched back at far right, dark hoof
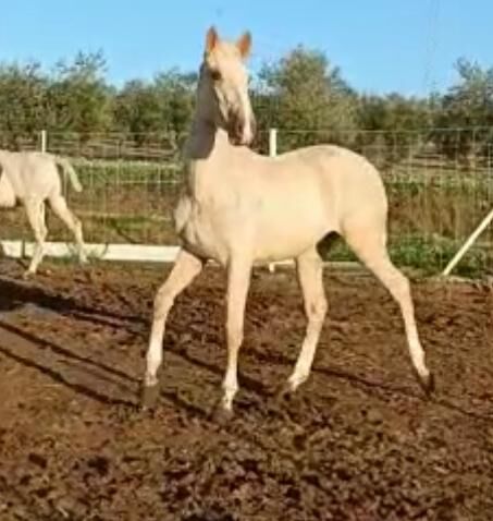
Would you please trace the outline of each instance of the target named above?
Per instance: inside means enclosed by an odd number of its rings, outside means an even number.
[[[400,306],[409,354],[424,390],[434,388],[432,374],[424,362],[424,351],[416,327],[409,280],[393,264],[386,250],[386,233],[368,223],[346,228],[344,237],[362,263],[380,279]]]

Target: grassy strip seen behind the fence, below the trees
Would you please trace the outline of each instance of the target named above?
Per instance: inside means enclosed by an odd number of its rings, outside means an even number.
[[[172,209],[180,168],[152,161],[75,161],[84,185],[69,191],[70,206],[84,222],[87,242],[175,244]],[[390,254],[398,266],[437,274],[493,205],[489,172],[399,168],[384,173],[390,201]],[[2,239],[32,240],[22,210],[2,211]],[[49,240],[71,241],[58,219],[49,216]],[[493,271],[493,227],[455,269],[461,276]],[[355,260],[343,241],[323,255]]]

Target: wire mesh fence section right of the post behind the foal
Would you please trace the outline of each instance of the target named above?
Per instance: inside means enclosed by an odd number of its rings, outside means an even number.
[[[399,265],[442,270],[493,208],[491,129],[352,131],[336,135],[293,130],[279,131],[278,135],[281,153],[294,146],[338,143],[379,168],[389,196],[391,255]],[[354,258],[341,243],[330,255]],[[463,272],[493,272],[492,226],[468,251],[459,268]]]

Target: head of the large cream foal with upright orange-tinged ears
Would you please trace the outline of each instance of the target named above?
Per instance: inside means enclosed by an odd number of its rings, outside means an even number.
[[[255,135],[255,117],[248,96],[245,60],[251,36],[245,33],[236,43],[222,40],[215,28],[206,36],[200,66],[198,104],[201,117],[223,128],[234,145],[249,145]]]

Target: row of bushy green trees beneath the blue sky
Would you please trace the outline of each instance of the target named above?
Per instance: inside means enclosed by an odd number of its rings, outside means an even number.
[[[254,77],[254,110],[260,130],[283,131],[280,150],[319,142],[359,150],[385,145],[394,150],[390,159],[398,159],[418,131],[428,129],[442,153],[468,155],[493,143],[493,68],[466,59],[455,68],[454,85],[429,97],[358,93],[323,52],[299,46]],[[19,147],[41,129],[83,141],[111,131],[144,146],[152,133],[186,133],[196,83],[196,72],[172,69],[115,87],[101,51],[78,52],[51,71],[37,62],[2,63],[0,135]],[[266,141],[259,145],[264,148]]]

